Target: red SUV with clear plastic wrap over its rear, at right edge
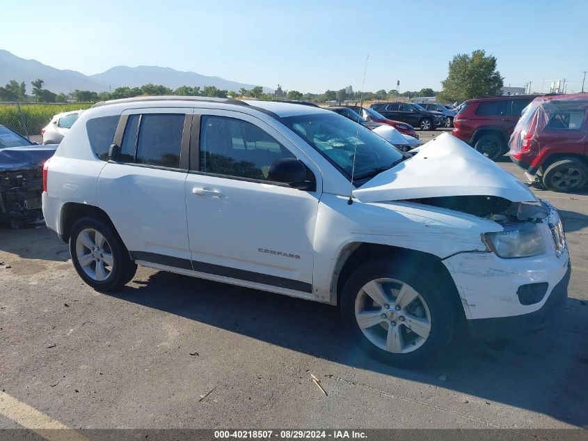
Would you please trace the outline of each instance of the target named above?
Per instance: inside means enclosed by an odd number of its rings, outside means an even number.
[[[571,192],[588,183],[588,93],[536,98],[509,141],[511,160],[531,182]]]

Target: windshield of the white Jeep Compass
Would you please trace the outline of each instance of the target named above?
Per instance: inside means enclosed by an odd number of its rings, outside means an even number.
[[[353,183],[356,185],[371,179],[379,171],[389,169],[404,157],[400,150],[372,130],[336,114],[289,116],[282,118],[282,121],[349,180],[357,141],[356,169],[353,174]]]

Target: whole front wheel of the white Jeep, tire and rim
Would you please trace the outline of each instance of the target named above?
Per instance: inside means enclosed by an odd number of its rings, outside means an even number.
[[[374,286],[383,290],[374,291]],[[404,300],[396,305],[404,287]],[[378,295],[372,297],[368,291],[372,295],[387,293],[380,297],[384,305],[374,300]],[[396,366],[422,366],[431,361],[445,349],[456,330],[457,314],[454,302],[447,299],[447,290],[443,291],[434,277],[422,277],[410,265],[387,258],[374,258],[356,268],[340,300],[344,323],[360,347]],[[363,330],[358,323],[362,315]]]

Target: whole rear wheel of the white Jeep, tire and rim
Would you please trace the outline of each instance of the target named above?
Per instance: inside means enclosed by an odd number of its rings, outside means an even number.
[[[95,217],[82,217],[72,227],[70,255],[79,277],[96,291],[122,288],[137,270],[118,233]]]

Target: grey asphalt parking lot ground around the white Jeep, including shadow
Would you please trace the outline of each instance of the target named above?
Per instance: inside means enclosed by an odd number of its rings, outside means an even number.
[[[45,226],[0,229],[0,428],[586,428],[588,192],[534,191],[565,219],[563,313],[416,371],[354,348],[334,307],[148,268],[98,293]]]

